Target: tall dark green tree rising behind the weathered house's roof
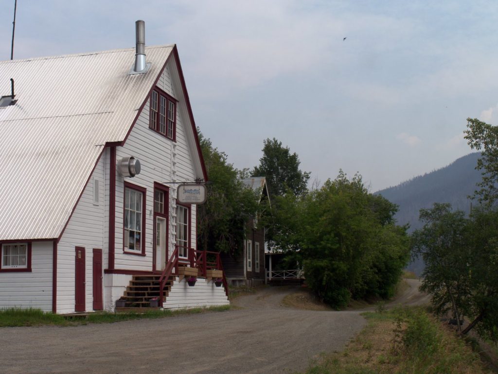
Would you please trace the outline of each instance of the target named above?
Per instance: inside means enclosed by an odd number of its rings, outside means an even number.
[[[263,157],[252,175],[266,177],[270,196],[281,196],[289,189],[296,195],[306,191],[310,173],[299,170],[300,161],[296,153],[291,154],[289,147],[283,147],[282,142],[275,138],[264,140],[262,151]]]

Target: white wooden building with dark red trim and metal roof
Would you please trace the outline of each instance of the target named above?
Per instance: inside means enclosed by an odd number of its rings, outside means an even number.
[[[176,248],[193,264],[196,205],[177,183],[207,175],[178,52],[144,63],[138,44],[0,62],[0,308],[113,310]],[[228,303],[172,277],[164,307]]]

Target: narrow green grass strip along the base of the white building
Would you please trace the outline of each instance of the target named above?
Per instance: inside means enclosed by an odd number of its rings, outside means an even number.
[[[110,313],[96,312],[90,313],[86,318],[64,317],[60,314],[43,312],[40,309],[20,309],[8,308],[0,310],[0,327],[21,327],[21,326],[78,326],[89,323],[115,323],[134,319],[155,319],[174,317],[188,314],[198,314],[204,312],[223,312],[230,310],[230,305],[212,306],[207,308],[190,308],[177,310],[148,310],[144,313]]]

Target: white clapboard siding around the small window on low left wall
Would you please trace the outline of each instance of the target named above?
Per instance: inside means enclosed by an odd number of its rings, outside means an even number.
[[[52,242],[31,244],[31,273],[0,273],[0,309],[52,310]]]

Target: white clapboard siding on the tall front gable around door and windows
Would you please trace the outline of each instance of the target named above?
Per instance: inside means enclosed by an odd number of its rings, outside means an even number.
[[[178,98],[176,92],[181,92],[181,87],[175,88],[169,71],[170,65],[174,64],[171,59],[157,83],[158,87],[167,94]],[[180,105],[177,105],[179,107]],[[195,179],[192,156],[186,140],[183,114],[177,110],[176,117],[176,142],[166,139],[164,136],[149,129],[149,100],[141,111],[135,126],[131,130],[123,147],[117,147],[117,160],[123,157],[133,156],[140,160],[141,172],[133,178],[116,177],[116,249],[115,268],[123,270],[152,270],[152,239],[153,239],[153,199],[154,182],[162,183],[170,187],[169,199],[169,253],[171,254],[175,246],[175,208],[176,208],[176,187],[175,184],[164,182],[192,181]],[[190,124],[188,124],[190,126]],[[174,161],[174,162],[173,162]],[[123,211],[124,211],[124,182],[146,189],[145,206],[145,256],[136,256],[123,253]],[[196,209],[192,205],[191,209],[191,246],[196,245]],[[113,292],[114,293],[114,292]]]

